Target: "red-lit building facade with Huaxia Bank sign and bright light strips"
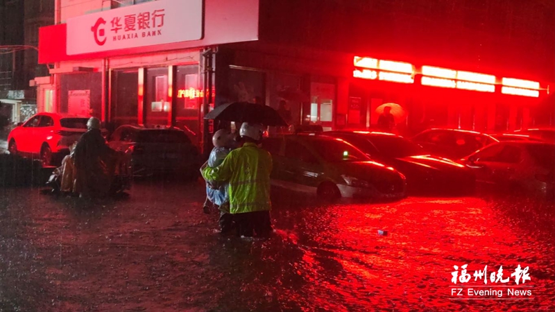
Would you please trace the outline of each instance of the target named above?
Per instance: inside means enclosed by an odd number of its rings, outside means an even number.
[[[552,125],[552,3],[502,2],[58,0],[39,110],[172,125],[200,145],[205,112],[231,101],[284,101],[291,123],[325,129],[373,128],[383,103],[404,107],[407,134]]]

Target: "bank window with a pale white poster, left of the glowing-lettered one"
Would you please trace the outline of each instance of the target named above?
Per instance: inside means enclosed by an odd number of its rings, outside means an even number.
[[[146,69],[146,124],[167,125],[171,103],[168,96],[168,68]]]

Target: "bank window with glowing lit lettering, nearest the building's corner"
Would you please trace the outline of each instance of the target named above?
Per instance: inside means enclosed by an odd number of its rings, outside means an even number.
[[[177,68],[176,79],[176,127],[185,130],[194,144],[200,141],[200,106],[205,96],[200,87],[198,65]]]

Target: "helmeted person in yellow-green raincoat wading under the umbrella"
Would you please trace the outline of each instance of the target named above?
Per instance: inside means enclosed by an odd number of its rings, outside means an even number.
[[[270,173],[272,157],[258,147],[264,127],[243,123],[239,130],[241,148],[232,150],[216,168],[203,168],[205,180],[229,182],[230,214],[239,236],[268,237],[270,220]]]

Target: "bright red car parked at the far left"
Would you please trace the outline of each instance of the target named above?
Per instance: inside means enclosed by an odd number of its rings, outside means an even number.
[[[87,131],[87,116],[42,112],[17,125],[8,135],[12,155],[38,156],[44,166],[58,164],[69,146]]]

